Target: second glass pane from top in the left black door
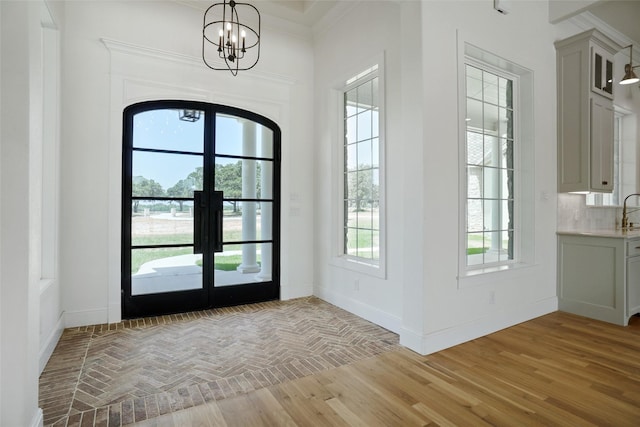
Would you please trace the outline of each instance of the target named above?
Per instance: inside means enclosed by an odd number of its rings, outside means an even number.
[[[202,190],[202,156],[133,152],[134,197],[193,197]]]

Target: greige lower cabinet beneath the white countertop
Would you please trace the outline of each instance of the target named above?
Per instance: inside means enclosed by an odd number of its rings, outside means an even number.
[[[559,235],[558,305],[626,326],[640,312],[640,239]]]

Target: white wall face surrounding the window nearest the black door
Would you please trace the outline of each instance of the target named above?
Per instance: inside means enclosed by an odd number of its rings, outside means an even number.
[[[408,5],[407,5],[408,6]],[[419,6],[417,3],[412,6]],[[315,37],[316,129],[316,287],[314,293],[364,318],[398,331],[401,327],[403,215],[409,195],[403,174],[401,4],[345,2],[332,11]],[[329,24],[330,22],[330,24]],[[415,30],[416,27],[411,27]],[[414,33],[415,34],[415,33]],[[345,81],[384,56],[386,115],[386,278],[346,269],[335,263],[340,229],[336,192],[342,166],[338,152],[339,94]],[[417,55],[419,59],[419,55]],[[413,183],[411,184],[412,188]],[[357,284],[356,284],[357,281]]]

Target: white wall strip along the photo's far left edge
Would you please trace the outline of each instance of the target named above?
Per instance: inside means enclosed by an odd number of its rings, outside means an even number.
[[[42,2],[1,2],[0,424],[42,425]]]

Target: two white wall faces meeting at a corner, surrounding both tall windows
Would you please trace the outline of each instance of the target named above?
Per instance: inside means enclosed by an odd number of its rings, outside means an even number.
[[[332,264],[325,236],[336,224],[326,171],[336,134],[317,133],[316,292],[398,330],[421,353],[437,351],[557,308],[555,279],[555,54],[545,2],[365,2],[317,36],[318,120],[330,122],[327,93],[353,64],[384,49],[387,57],[387,279]],[[419,22],[412,22],[415,14]],[[413,18],[415,19],[415,18]],[[408,25],[408,29],[403,27]],[[402,31],[400,30],[402,28]],[[416,42],[414,39],[420,37]],[[458,281],[458,35],[534,74],[535,241],[529,268]],[[404,46],[415,46],[417,50]],[[335,49],[350,55],[335,58]],[[525,48],[526,47],[526,48]],[[421,50],[420,50],[421,49]],[[412,63],[420,58],[422,63]],[[419,94],[419,98],[415,94]],[[416,117],[416,111],[421,116]],[[407,120],[403,117],[414,117]],[[339,168],[339,165],[337,166]],[[359,280],[355,291],[353,281]],[[495,302],[491,303],[493,295]],[[394,322],[394,319],[397,321]],[[385,323],[382,323],[385,324]]]

